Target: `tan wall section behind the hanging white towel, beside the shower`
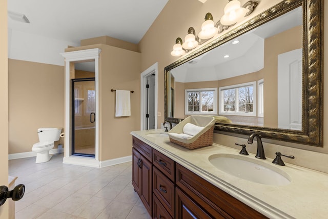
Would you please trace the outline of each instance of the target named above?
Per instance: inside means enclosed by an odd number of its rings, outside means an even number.
[[[99,160],[130,156],[131,131],[140,129],[140,63],[138,52],[96,44],[66,49],[101,49],[99,58]],[[115,90],[133,90],[131,116],[115,117]]]

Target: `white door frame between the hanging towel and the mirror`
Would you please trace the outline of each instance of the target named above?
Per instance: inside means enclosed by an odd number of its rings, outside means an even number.
[[[144,72],[141,73],[140,76],[140,129],[145,130],[147,127],[146,124],[146,103],[147,103],[147,77],[149,75],[155,74],[155,126],[157,127],[157,120],[158,120],[158,63],[150,66]]]

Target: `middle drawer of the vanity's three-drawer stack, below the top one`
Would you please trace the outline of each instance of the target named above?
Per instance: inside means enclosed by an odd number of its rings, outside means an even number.
[[[158,197],[164,208],[174,216],[174,184],[153,167],[153,193]]]

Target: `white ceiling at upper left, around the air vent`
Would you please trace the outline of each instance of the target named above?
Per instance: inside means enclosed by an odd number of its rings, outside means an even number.
[[[8,11],[30,23],[8,18],[8,28],[78,44],[111,36],[138,44],[168,0],[8,0]]]

